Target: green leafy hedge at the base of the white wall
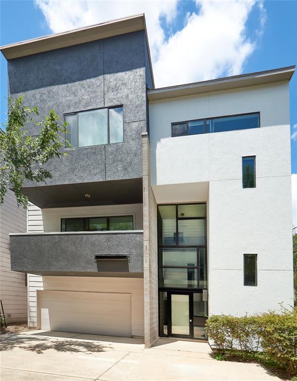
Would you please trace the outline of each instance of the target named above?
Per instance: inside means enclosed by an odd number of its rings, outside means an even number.
[[[297,307],[256,316],[212,316],[206,331],[216,354],[254,359],[272,368],[297,372]]]

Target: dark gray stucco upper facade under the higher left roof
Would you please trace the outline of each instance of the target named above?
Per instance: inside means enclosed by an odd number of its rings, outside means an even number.
[[[126,189],[125,181],[142,178],[141,132],[148,127],[146,87],[152,87],[145,30],[8,60],[8,80],[9,95],[24,95],[24,103],[37,106],[42,117],[54,109],[63,121],[68,113],[123,105],[124,141],[75,148],[52,159],[47,184],[24,184],[33,203],[64,206],[55,194],[66,192],[73,206],[85,205],[76,184],[117,181]],[[39,133],[30,126],[28,132]]]

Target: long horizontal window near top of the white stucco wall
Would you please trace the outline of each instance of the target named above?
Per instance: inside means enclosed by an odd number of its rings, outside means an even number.
[[[260,113],[172,123],[171,136],[197,135],[199,133],[233,131],[256,127],[260,127]]]

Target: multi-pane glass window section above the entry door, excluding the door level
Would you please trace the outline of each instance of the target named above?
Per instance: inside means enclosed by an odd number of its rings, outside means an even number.
[[[206,204],[158,205],[159,287],[207,288]]]

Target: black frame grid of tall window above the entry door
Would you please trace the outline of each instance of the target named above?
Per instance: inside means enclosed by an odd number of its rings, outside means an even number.
[[[205,205],[205,217],[179,217],[178,216],[178,206],[179,205],[198,205],[198,204],[203,204]],[[171,289],[175,289],[175,290],[179,290],[179,291],[184,291],[184,292],[187,292],[187,291],[195,291],[195,292],[198,292],[197,290],[200,290],[202,292],[202,290],[205,290],[205,288],[200,288],[200,248],[201,249],[204,249],[204,253],[205,253],[205,267],[207,269],[207,266],[208,266],[208,262],[207,262],[207,208],[206,208],[206,202],[185,202],[185,203],[179,203],[179,204],[158,204],[157,205],[157,208],[159,206],[175,206],[175,219],[176,219],[176,231],[175,231],[175,245],[162,245],[162,244],[159,244],[159,237],[158,237],[158,290],[159,291],[168,291],[168,290],[171,290]],[[179,245],[179,231],[178,231],[178,221],[179,220],[205,220],[206,224],[205,224],[205,238],[206,238],[206,243],[205,245]],[[157,217],[157,232],[159,232],[159,218]],[[175,249],[175,248],[178,248],[178,249],[196,249],[197,250],[197,266],[174,266],[174,265],[160,265],[160,261],[159,261],[159,252],[160,252],[160,249]],[[197,270],[197,287],[160,287],[159,286],[159,271],[160,269],[162,268],[187,268],[187,269],[194,269],[194,272],[195,272],[195,269]],[[188,279],[189,280],[189,279]],[[207,287],[206,289],[208,288],[208,273],[206,271],[206,282],[207,282]],[[199,291],[199,292],[200,292]]]

